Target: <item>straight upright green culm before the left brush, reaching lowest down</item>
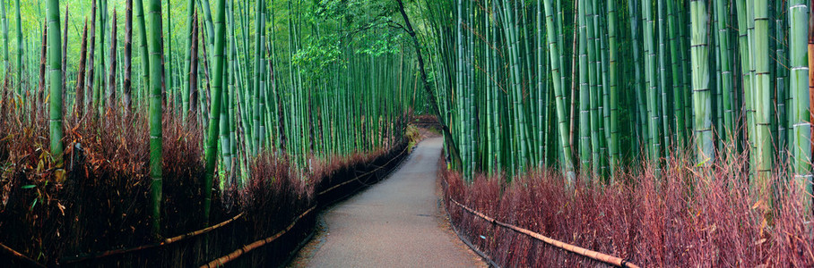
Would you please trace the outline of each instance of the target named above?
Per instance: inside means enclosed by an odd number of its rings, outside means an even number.
[[[141,4],[136,0],[134,4]],[[150,21],[149,50],[150,50],[150,179],[152,232],[159,236],[161,225],[161,161],[162,161],[162,128],[161,128],[161,0],[150,0],[147,7],[147,16]],[[136,9],[136,13],[138,9]]]

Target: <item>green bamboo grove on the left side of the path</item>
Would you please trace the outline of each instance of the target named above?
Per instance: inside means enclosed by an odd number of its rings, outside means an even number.
[[[0,3],[0,96],[21,109],[49,109],[57,161],[66,118],[149,117],[155,232],[162,139],[176,138],[162,135],[168,117],[204,132],[203,185],[219,178],[226,189],[247,180],[258,155],[308,172],[317,160],[394,146],[415,103],[402,100],[423,96],[415,59],[402,53],[410,43],[376,3],[350,13],[301,0],[16,0],[16,19]],[[212,188],[203,190],[208,221]]]

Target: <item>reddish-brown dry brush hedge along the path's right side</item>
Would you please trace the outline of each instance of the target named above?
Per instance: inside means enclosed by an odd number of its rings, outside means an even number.
[[[658,177],[645,166],[619,173],[609,185],[582,177],[572,188],[550,170],[510,183],[482,174],[465,182],[446,169],[441,178],[453,224],[501,266],[596,263],[485,222],[449,198],[500,222],[645,267],[814,266],[811,212],[795,198],[790,176],[774,172],[774,202],[758,201],[765,199],[749,190],[746,156],[727,156],[707,172],[678,158]]]

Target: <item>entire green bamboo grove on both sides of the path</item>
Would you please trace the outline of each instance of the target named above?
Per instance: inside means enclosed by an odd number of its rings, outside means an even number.
[[[155,221],[169,116],[203,132],[202,180],[221,188],[258,155],[310,171],[389,147],[414,109],[437,113],[468,180],[552,168],[605,183],[742,154],[750,188],[770,195],[767,179],[787,174],[812,193],[810,1],[406,4],[0,1],[0,105],[48,111],[60,168],[64,121],[146,115]]]

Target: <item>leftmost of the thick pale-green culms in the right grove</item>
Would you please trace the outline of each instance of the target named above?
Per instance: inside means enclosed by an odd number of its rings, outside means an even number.
[[[692,106],[695,113],[693,129],[697,145],[697,160],[701,166],[714,163],[712,131],[712,94],[709,88],[709,48],[707,44],[706,0],[689,3],[691,21]]]

